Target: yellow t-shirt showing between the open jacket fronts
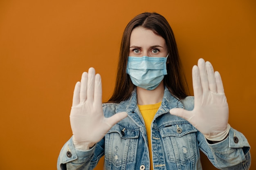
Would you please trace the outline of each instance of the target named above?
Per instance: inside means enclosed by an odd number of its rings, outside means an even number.
[[[154,119],[155,113],[157,113],[158,108],[161,106],[161,103],[162,102],[159,102],[157,104],[138,105],[139,111],[144,119],[146,130],[147,130],[150,170],[153,170],[152,149],[151,149],[151,123]]]

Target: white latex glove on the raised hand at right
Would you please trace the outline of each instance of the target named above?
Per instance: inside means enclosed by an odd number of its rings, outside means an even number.
[[[220,73],[214,73],[210,62],[198,60],[192,69],[195,106],[192,111],[181,108],[170,110],[172,115],[189,121],[208,140],[221,141],[229,132],[229,107]]]

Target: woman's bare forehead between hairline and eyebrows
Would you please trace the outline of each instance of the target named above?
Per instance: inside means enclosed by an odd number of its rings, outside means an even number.
[[[136,27],[132,30],[130,36],[130,46],[154,46],[165,45],[165,40],[160,35],[155,34],[150,29]]]

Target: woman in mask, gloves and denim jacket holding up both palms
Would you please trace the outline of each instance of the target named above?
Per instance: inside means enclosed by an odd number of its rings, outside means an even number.
[[[157,13],[137,15],[123,34],[108,103],[101,103],[101,77],[94,68],[76,83],[73,136],[61,150],[58,169],[91,170],[105,155],[106,170],[200,170],[199,150],[219,169],[249,169],[250,146],[228,124],[219,73],[203,59],[192,72],[195,97],[186,95],[166,19]]]

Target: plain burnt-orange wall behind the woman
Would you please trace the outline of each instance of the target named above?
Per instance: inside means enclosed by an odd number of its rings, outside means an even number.
[[[145,11],[171,24],[191,95],[198,58],[221,73],[229,124],[247,137],[255,161],[255,9],[255,0],[0,0],[0,170],[56,169],[72,135],[75,83],[94,67],[108,100],[122,32]],[[205,157],[202,164],[216,169]]]

